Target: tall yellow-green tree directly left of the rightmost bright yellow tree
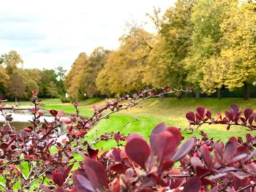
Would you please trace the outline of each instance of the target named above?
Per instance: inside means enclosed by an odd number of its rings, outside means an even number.
[[[211,64],[214,69],[218,68],[219,62],[214,63],[216,61],[214,57],[220,53],[219,39],[222,37],[220,23],[225,17],[224,11],[229,10],[229,2],[229,0],[197,0],[192,8],[192,46],[189,47],[186,58],[186,69],[189,72],[187,80],[192,82],[197,91],[202,88],[203,92],[214,93],[216,88],[222,88],[221,82],[214,82],[208,77],[208,80],[204,80],[206,79],[204,74],[211,68],[209,67]],[[212,70],[212,72],[219,71]],[[212,77],[220,79],[216,74]]]

